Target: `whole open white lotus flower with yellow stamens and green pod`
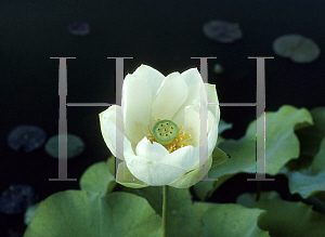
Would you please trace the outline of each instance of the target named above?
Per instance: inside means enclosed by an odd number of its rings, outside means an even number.
[[[203,98],[206,103],[217,104],[208,106],[208,156],[202,161],[200,90],[207,95]],[[216,85],[204,87],[196,68],[165,77],[146,65],[127,75],[122,106],[113,105],[100,114],[106,145],[123,160],[118,166],[117,182],[136,188],[150,185],[186,188],[197,183],[211,168],[219,120]],[[118,134],[123,137],[123,150],[116,146]]]

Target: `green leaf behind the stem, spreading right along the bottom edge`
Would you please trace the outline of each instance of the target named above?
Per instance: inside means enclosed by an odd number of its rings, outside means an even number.
[[[125,188],[148,200],[161,215],[162,187]],[[238,205],[193,202],[188,189],[169,187],[167,229],[170,236],[269,236],[257,226],[263,210],[251,210]],[[244,219],[243,219],[244,218]],[[243,220],[242,220],[243,219]],[[250,235],[248,235],[250,234]]]

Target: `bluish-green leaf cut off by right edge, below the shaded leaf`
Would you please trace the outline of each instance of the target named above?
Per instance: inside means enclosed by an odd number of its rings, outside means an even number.
[[[325,190],[325,137],[310,167],[299,171],[289,171],[284,167],[281,172],[288,177],[291,194],[298,193],[301,197],[308,198]]]

